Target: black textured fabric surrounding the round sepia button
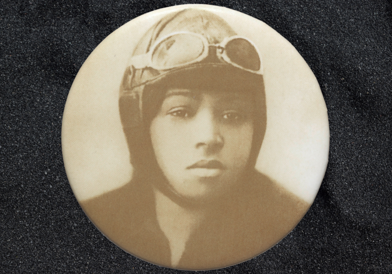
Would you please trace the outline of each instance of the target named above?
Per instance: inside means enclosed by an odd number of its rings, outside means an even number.
[[[208,273],[392,273],[390,0],[1,0],[0,272],[163,273],[107,240],[68,183],[61,121],[76,73],[111,32],[175,4],[269,24],[315,73],[329,164],[313,206],[278,245]]]

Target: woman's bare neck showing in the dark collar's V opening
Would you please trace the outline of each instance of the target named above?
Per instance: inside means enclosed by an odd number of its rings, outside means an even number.
[[[204,210],[190,210],[179,206],[157,188],[154,189],[154,195],[158,224],[169,240],[172,267],[175,267],[185,251],[190,235],[203,218]]]

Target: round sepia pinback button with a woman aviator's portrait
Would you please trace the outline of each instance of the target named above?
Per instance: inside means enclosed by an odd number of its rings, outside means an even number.
[[[109,35],[67,98],[62,150],[86,215],[130,254],[183,270],[249,260],[313,203],[328,161],[311,69],[227,8],[156,10]]]

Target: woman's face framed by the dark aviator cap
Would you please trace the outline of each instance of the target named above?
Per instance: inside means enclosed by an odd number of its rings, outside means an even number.
[[[208,200],[232,189],[245,169],[254,105],[241,92],[169,89],[152,119],[152,147],[172,190]]]

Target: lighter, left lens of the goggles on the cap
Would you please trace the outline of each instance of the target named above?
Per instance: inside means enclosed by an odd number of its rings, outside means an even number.
[[[175,34],[155,47],[151,61],[158,68],[173,68],[195,62],[204,50],[204,43],[199,37]]]

